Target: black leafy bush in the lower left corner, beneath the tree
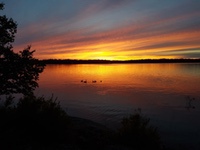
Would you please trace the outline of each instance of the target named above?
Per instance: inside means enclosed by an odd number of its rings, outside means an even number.
[[[0,117],[2,148],[50,149],[66,143],[69,138],[70,119],[53,98],[27,96],[15,106],[4,104]]]

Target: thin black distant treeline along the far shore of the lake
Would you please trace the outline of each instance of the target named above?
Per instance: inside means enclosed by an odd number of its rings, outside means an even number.
[[[45,59],[41,61],[45,64],[200,63],[200,59],[141,59],[141,60]]]

